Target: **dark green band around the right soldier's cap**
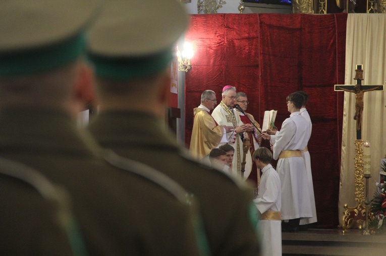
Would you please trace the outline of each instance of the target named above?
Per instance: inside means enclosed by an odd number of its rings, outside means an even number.
[[[172,59],[172,49],[138,58],[113,58],[89,54],[89,61],[94,64],[95,74],[114,80],[132,80],[158,73],[168,67]]]

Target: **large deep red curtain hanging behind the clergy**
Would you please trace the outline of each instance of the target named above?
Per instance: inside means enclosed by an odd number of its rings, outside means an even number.
[[[192,15],[185,40],[194,56],[185,81],[186,146],[189,147],[193,108],[205,90],[230,84],[248,95],[247,112],[262,124],[265,110],[278,110],[280,129],[289,117],[286,97],[303,90],[313,127],[308,149],[318,222],[336,228],[347,14],[214,14]],[[269,146],[265,141],[263,146]],[[275,165],[275,163],[273,163]]]

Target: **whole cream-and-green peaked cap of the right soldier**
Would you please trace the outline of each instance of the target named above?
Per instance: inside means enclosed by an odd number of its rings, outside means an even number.
[[[189,17],[176,0],[109,0],[89,31],[96,74],[132,79],[165,68]]]

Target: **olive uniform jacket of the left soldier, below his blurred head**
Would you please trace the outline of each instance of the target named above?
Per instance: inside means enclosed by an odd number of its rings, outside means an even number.
[[[0,112],[0,124],[2,157],[35,168],[70,192],[90,255],[200,255],[186,206],[148,180],[108,165],[69,115],[9,109]]]

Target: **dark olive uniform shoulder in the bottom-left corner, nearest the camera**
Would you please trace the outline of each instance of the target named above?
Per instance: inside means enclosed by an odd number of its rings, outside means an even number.
[[[0,174],[0,254],[74,255],[52,202],[29,184]]]

